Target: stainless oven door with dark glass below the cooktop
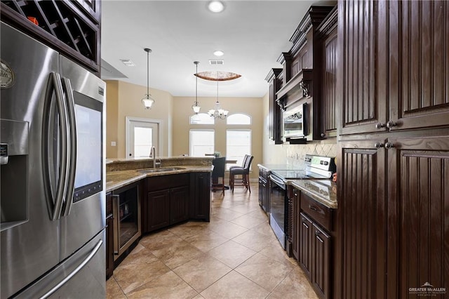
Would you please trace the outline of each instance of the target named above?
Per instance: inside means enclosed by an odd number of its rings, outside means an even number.
[[[276,175],[270,175],[269,184],[269,225],[281,243],[286,248],[286,226],[287,226],[287,190],[286,185]]]

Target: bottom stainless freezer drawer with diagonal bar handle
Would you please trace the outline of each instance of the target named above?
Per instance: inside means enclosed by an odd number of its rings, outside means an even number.
[[[105,298],[105,230],[17,298]]]

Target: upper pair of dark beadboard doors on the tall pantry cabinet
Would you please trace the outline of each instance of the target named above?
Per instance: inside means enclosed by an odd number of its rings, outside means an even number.
[[[446,126],[448,4],[349,1],[341,8],[340,134]]]

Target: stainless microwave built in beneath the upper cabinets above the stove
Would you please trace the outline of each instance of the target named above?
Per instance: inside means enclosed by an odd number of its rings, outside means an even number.
[[[309,134],[309,107],[307,103],[283,112],[283,137],[304,138]]]

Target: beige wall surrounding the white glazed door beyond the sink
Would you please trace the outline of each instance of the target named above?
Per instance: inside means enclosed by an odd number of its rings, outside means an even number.
[[[106,84],[106,157],[109,159],[126,158],[126,117],[160,120],[162,134],[159,136],[161,143],[159,156],[171,156],[172,95],[166,91],[150,88],[149,92],[156,102],[152,109],[145,109],[140,100],[147,92],[146,86],[123,81],[106,81]],[[116,142],[116,147],[111,146],[112,141]]]

